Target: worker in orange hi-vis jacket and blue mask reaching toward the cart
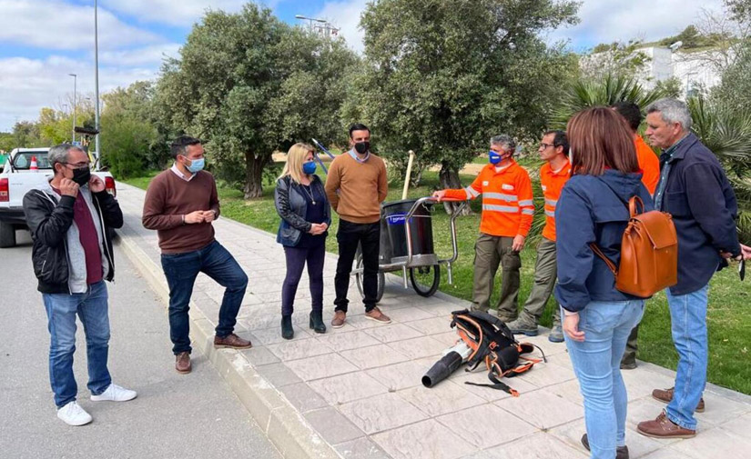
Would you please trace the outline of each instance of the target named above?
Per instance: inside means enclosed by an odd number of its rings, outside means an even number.
[[[472,185],[433,194],[439,201],[474,199],[482,195],[480,236],[475,244],[472,309],[490,308],[493,279],[502,266],[501,298],[498,317],[503,322],[516,318],[519,295],[519,253],[532,226],[534,203],[532,182],[527,171],[513,160],[516,143],[508,135],[491,139],[489,165],[482,168]]]

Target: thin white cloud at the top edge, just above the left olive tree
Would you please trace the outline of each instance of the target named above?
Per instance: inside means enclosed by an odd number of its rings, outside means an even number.
[[[139,20],[190,27],[207,10],[222,10],[236,13],[249,0],[104,0],[113,10],[132,15]],[[278,0],[265,2],[270,7]]]

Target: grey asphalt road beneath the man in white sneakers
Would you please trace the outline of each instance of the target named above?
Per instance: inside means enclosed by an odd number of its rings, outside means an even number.
[[[36,291],[31,241],[0,249],[0,457],[15,458],[277,458],[280,457],[215,368],[194,349],[193,373],[174,370],[166,308],[116,249],[109,288],[109,370],[134,389],[125,403],[91,402],[86,342],[78,324],[78,403],[94,422],[57,419],[49,386],[49,334]]]

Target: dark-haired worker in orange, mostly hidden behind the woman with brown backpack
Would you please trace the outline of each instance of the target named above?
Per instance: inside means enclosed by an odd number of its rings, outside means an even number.
[[[642,124],[642,111],[639,105],[633,102],[620,102],[613,106],[613,109],[624,117],[626,123],[634,134],[634,144],[636,145],[636,159],[639,162],[639,168],[642,169],[642,183],[646,186],[650,195],[655,195],[657,182],[660,181],[660,158],[649,145],[646,145],[641,135],[637,134],[639,125]],[[636,347],[639,338],[639,324],[634,326],[634,330],[628,336],[626,350],[621,359],[621,369],[633,370],[636,368]]]

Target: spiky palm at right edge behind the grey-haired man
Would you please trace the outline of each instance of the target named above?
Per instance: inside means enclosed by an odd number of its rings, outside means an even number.
[[[751,242],[751,111],[710,104],[703,96],[688,99],[691,130],[725,167],[738,201],[738,237]]]

